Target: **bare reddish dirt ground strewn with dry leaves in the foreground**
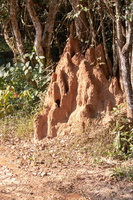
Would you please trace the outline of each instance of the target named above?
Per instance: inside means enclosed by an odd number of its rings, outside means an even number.
[[[1,200],[133,200],[133,182],[111,176],[118,161],[92,162],[79,152],[63,160],[66,141],[59,140],[58,151],[55,139],[0,140]]]

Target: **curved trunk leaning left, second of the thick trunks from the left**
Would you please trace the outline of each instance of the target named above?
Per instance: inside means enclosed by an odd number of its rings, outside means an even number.
[[[34,9],[33,0],[26,0],[26,6],[36,31],[35,41],[34,41],[36,54],[38,56],[44,56],[44,50],[42,47],[42,26]]]

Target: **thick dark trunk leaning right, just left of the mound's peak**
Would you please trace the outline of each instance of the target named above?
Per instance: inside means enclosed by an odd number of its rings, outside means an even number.
[[[61,5],[61,1],[62,0],[54,0],[54,2],[53,1],[50,2],[49,13],[48,13],[48,17],[45,23],[42,43],[43,43],[43,48],[44,48],[45,57],[46,57],[46,66],[48,66],[52,60],[51,43],[52,43],[52,37],[53,37],[53,29],[54,29],[56,14]]]

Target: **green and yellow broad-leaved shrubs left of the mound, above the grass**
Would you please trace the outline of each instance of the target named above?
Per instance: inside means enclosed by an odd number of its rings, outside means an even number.
[[[27,62],[0,67],[0,117],[15,110],[31,110],[45,91],[52,73],[51,66],[43,69],[44,57],[34,52],[26,54]]]

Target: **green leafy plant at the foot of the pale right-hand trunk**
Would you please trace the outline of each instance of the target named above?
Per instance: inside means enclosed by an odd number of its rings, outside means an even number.
[[[113,154],[121,159],[127,159],[133,156],[133,122],[121,116],[122,106],[115,109],[115,124],[112,130],[112,134],[115,135]]]

